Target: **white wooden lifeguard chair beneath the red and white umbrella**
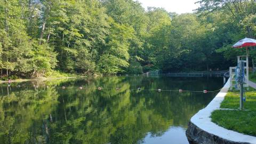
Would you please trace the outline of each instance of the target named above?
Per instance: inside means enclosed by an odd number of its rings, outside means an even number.
[[[239,55],[237,56],[237,65],[240,61],[244,62],[244,77],[245,77],[245,82],[249,80],[249,56],[248,55]],[[229,77],[230,77],[230,90],[233,90],[236,84],[236,78],[235,78],[235,73],[236,73],[236,67],[230,67],[229,68]],[[247,87],[249,89],[249,85],[245,84],[244,87]]]

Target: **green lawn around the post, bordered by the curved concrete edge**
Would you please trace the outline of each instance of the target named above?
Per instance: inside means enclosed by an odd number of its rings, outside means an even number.
[[[245,95],[245,110],[215,110],[212,122],[228,130],[256,136],[256,91],[248,91]],[[220,107],[238,109],[239,91],[228,92]]]

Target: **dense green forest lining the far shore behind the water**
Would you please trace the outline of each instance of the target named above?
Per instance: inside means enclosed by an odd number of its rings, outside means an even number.
[[[201,0],[194,13],[133,0],[0,0],[1,77],[227,70],[255,38],[254,0]],[[256,60],[254,47],[250,59]]]

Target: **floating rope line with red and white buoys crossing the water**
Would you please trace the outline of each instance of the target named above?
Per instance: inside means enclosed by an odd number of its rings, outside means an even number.
[[[11,85],[8,85],[8,87],[11,87]],[[14,86],[12,86],[14,87]],[[16,87],[20,88],[20,87],[26,87],[28,89],[28,86],[21,86],[21,85],[17,85]],[[35,89],[39,89],[40,86],[38,85],[34,85],[33,86]],[[116,88],[103,88],[103,87],[83,87],[83,86],[79,86],[79,87],[75,87],[75,86],[44,86],[44,88],[49,89],[50,87],[54,87],[54,88],[59,88],[59,89],[78,89],[78,90],[122,90],[119,87]],[[195,93],[214,93],[214,92],[219,92],[221,89],[215,90],[215,91],[207,91],[207,90],[203,90],[203,91],[189,91],[189,90],[162,90],[162,89],[141,89],[140,87],[138,87],[138,89],[127,89],[130,91],[157,91],[157,92],[195,92]]]

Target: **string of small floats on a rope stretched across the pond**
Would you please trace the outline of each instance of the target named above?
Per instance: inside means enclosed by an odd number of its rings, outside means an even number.
[[[9,84],[8,87],[10,87],[11,85]],[[21,85],[17,85],[17,87],[22,87]],[[25,86],[27,87],[27,86]],[[34,85],[35,88],[38,88],[39,86],[38,85]],[[84,90],[84,89],[98,89],[99,91],[101,90],[113,90],[112,89],[109,89],[109,88],[102,88],[102,87],[82,87],[82,86],[79,86],[79,87],[65,87],[65,86],[62,86],[62,87],[58,87],[58,86],[53,86],[55,88],[62,88],[62,89],[79,89],[79,90]],[[50,86],[46,86],[47,89],[50,88]],[[121,90],[121,88],[119,87],[116,87],[115,88],[116,91],[119,91]],[[138,87],[138,89],[129,89],[130,91],[157,91],[157,92],[162,92],[162,91],[165,91],[165,92],[179,92],[179,93],[183,93],[183,92],[198,92],[198,93],[213,93],[213,92],[218,92],[220,91],[221,89],[219,90],[215,90],[215,91],[207,91],[207,90],[203,90],[203,91],[185,91],[185,90],[162,90],[162,89],[152,89],[152,90],[145,90],[145,89],[141,89],[141,87]]]

